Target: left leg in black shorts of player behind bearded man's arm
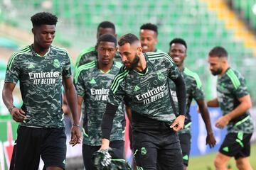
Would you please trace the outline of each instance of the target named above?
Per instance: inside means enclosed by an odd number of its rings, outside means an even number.
[[[100,146],[82,145],[82,159],[86,170],[95,169],[92,162],[92,154],[100,149]]]

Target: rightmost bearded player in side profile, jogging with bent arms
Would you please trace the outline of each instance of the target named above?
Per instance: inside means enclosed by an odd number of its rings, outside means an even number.
[[[223,116],[215,123],[216,128],[228,128],[223,144],[217,153],[214,165],[218,170],[227,169],[228,161],[235,157],[238,169],[252,169],[250,138],[253,124],[249,108],[252,106],[245,79],[228,64],[228,52],[223,47],[214,47],[208,54],[210,72],[218,76],[217,98],[207,102],[209,107],[220,106]]]

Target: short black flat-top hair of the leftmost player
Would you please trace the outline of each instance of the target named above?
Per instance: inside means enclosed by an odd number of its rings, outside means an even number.
[[[58,22],[57,16],[53,15],[52,13],[48,12],[40,12],[36,13],[35,15],[31,16],[31,22],[34,26],[41,26],[41,25],[54,25]]]

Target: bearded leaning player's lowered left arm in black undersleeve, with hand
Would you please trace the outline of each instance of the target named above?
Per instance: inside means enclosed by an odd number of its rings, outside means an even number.
[[[110,147],[110,133],[112,130],[114,114],[117,112],[118,106],[107,103],[106,111],[102,119],[102,146],[100,149],[108,149]]]

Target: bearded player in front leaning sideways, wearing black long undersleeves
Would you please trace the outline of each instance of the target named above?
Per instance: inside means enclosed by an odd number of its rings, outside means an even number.
[[[164,52],[142,52],[136,35],[119,39],[124,66],[110,86],[102,120],[102,147],[110,145],[112,122],[119,103],[132,109],[132,137],[137,169],[183,169],[177,131],[185,120],[186,89],[173,60]],[[171,107],[168,79],[176,86],[178,113]]]

